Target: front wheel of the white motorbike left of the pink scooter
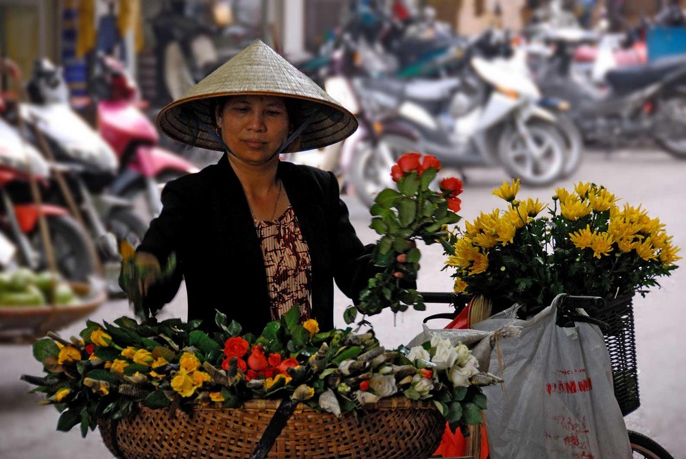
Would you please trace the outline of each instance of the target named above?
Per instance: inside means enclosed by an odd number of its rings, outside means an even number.
[[[110,231],[110,233],[113,233],[115,237],[117,237],[117,241],[125,239],[134,247],[141,244],[145,232],[147,231],[147,224],[141,220],[141,217],[125,207],[120,207],[111,211],[106,217],[105,226],[107,231]],[[121,261],[118,259],[105,259],[103,260],[103,269],[105,285],[110,297],[126,297],[126,293],[119,287]]]

